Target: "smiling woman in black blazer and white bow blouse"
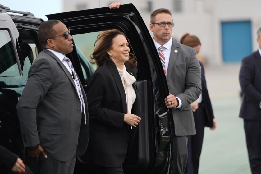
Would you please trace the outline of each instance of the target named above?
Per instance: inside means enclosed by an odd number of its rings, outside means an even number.
[[[140,99],[132,70],[137,62],[121,31],[104,31],[97,41],[91,63],[98,68],[86,93],[90,138],[85,157],[97,165],[96,173],[122,174],[122,163],[140,122]]]

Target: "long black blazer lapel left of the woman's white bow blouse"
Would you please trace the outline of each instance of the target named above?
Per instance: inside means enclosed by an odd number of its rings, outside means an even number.
[[[123,84],[122,84],[122,81],[121,81],[121,77],[120,77],[119,71],[117,70],[116,65],[112,61],[107,62],[107,66],[111,70],[112,76],[113,76],[113,78],[115,80],[115,83],[116,83],[116,85],[118,87],[118,90],[119,90],[119,92],[121,94],[121,101],[122,101],[123,112],[127,113],[126,95],[125,95],[125,91],[124,91],[124,87],[123,87]]]

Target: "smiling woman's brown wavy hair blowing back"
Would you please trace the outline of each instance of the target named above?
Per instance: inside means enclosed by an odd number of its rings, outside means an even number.
[[[94,51],[91,54],[91,64],[97,64],[98,67],[102,66],[105,62],[110,62],[112,59],[107,54],[107,51],[112,48],[112,41],[117,35],[123,35],[126,38],[126,35],[122,33],[120,30],[112,29],[103,31],[101,34],[97,36],[97,39],[94,43]],[[127,38],[126,38],[127,39]],[[96,43],[98,43],[96,45]],[[134,68],[137,66],[136,57],[134,54],[129,54],[129,60],[127,64]]]

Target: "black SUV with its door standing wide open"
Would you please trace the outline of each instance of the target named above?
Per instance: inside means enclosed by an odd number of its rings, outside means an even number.
[[[66,56],[85,88],[95,70],[89,63],[89,56],[99,32],[119,29],[126,34],[131,53],[138,61],[136,85],[142,101],[142,121],[134,153],[126,157],[124,171],[135,174],[171,172],[174,127],[172,114],[164,104],[164,98],[169,94],[167,82],[153,40],[137,9],[126,4],[119,9],[104,7],[46,16],[61,20],[70,29],[75,47]],[[26,85],[28,70],[43,50],[37,38],[42,22],[30,12],[0,5],[0,144],[27,164],[16,104]],[[84,155],[77,157],[75,173],[88,173],[90,167]],[[1,166],[0,173],[7,173],[7,169]]]

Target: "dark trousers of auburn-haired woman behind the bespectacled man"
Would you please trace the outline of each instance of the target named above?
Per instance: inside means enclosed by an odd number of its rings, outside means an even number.
[[[198,174],[199,158],[201,154],[203,138],[204,138],[204,108],[199,107],[193,112],[195,127],[197,134],[189,136],[188,139],[188,160],[185,174]]]

